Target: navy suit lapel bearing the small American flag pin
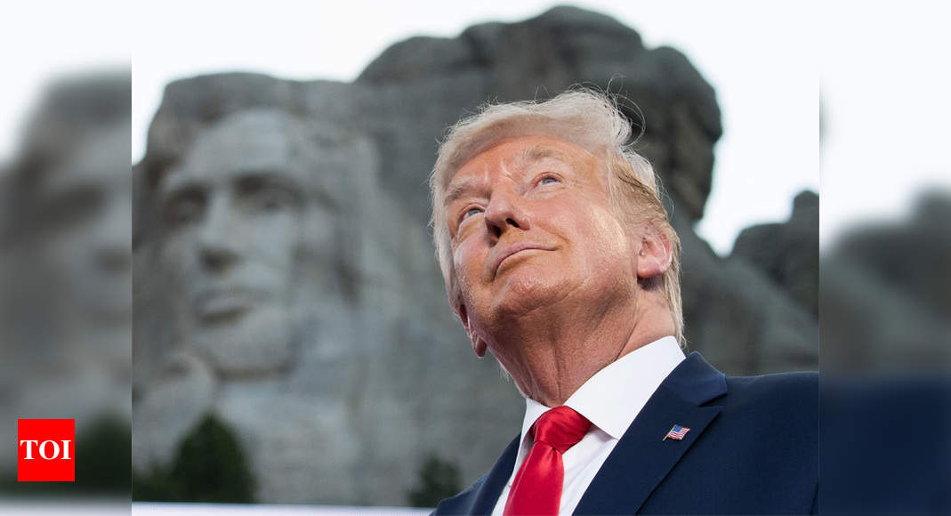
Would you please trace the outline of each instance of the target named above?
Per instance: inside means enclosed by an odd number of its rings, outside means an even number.
[[[717,406],[700,405],[725,392],[723,373],[702,355],[690,354],[637,414],[594,476],[575,514],[636,512],[721,411]],[[681,441],[664,440],[674,425],[690,430]]]

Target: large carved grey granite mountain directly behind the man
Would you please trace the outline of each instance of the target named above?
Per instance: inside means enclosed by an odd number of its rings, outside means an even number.
[[[229,73],[166,87],[136,167],[135,468],[162,465],[213,412],[246,447],[262,502],[404,505],[428,456],[456,464],[463,483],[481,475],[517,432],[523,402],[492,359],[473,356],[449,311],[425,182],[437,139],[461,115],[575,84],[630,99],[622,105],[643,133],[638,148],[667,186],[683,240],[690,348],[729,373],[814,369],[815,316],[756,266],[716,256],[691,228],[721,133],[712,87],[677,50],[644,48],[610,17],[555,8],[398,43],[353,84]],[[236,120],[246,130],[229,129]],[[298,145],[281,166],[257,167],[262,148],[247,157],[256,166],[226,163],[283,134],[281,124],[309,127],[317,144]],[[281,168],[302,185],[288,208],[297,223],[273,229],[280,211],[262,222],[235,208],[233,192],[260,192],[261,178],[226,184]],[[174,194],[189,169],[204,178]],[[271,252],[286,259],[259,261],[282,263],[290,270],[277,272],[294,279],[281,283],[283,327],[244,319],[246,300],[203,305],[189,294],[203,282],[258,281],[269,273],[248,264]],[[230,336],[208,340],[203,313]],[[286,334],[271,338],[279,327]],[[247,367],[271,345],[285,358]]]

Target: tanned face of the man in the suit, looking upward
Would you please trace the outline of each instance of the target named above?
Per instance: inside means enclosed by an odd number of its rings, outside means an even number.
[[[470,333],[492,347],[506,320],[634,292],[636,250],[602,167],[573,143],[523,136],[459,168],[445,208]]]

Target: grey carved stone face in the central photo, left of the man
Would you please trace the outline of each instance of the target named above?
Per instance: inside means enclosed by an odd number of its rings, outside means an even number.
[[[353,199],[340,186],[345,151],[312,124],[249,110],[202,132],[159,185],[161,258],[184,338],[219,372],[273,371],[294,357],[301,290],[320,288],[301,257],[334,248],[335,213]]]

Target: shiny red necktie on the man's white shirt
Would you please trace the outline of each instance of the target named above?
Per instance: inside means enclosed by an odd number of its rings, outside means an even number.
[[[561,454],[576,445],[591,426],[585,416],[564,405],[541,414],[532,426],[532,449],[505,502],[505,516],[558,514],[565,481]]]

